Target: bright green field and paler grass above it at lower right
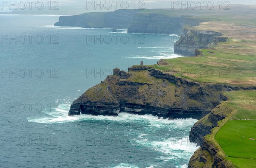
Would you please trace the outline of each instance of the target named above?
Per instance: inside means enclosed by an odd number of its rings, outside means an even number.
[[[238,168],[256,167],[256,91],[225,92],[237,112],[216,133],[215,140]]]

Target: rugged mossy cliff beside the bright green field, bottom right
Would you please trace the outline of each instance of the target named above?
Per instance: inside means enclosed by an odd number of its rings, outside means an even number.
[[[189,132],[189,140],[201,147],[190,158],[189,168],[234,168],[233,163],[225,159],[221,147],[214,140],[216,131],[213,130],[217,128],[218,121],[232,115],[233,110],[227,104],[221,103],[194,124]]]

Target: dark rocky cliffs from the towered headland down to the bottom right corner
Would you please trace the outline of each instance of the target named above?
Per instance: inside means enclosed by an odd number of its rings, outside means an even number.
[[[223,92],[256,90],[255,86],[201,84],[144,65],[128,70],[126,73],[115,68],[114,75],[84,92],[71,104],[69,115],[117,116],[120,112],[128,112],[169,119],[200,119],[189,132],[189,140],[201,146],[191,157],[189,168],[196,168],[197,164],[219,168],[233,166],[218,156],[219,149],[205,136],[232,111],[221,105],[227,101]],[[138,78],[144,81],[138,81]]]

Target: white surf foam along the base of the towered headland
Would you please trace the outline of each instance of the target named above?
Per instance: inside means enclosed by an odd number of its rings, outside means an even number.
[[[68,101],[68,100],[70,99],[67,99],[67,102],[63,104],[59,103],[59,106],[51,112],[45,111],[44,113],[48,115],[47,117],[31,116],[27,119],[29,122],[36,122],[36,123],[67,123],[67,122],[76,122],[80,120],[111,120],[111,121],[122,122],[122,123],[147,122],[148,126],[151,126],[151,127],[169,127],[169,129],[182,128],[184,126],[192,126],[193,123],[197,121],[192,118],[168,120],[168,119],[158,118],[153,115],[134,115],[134,114],[129,114],[125,112],[119,113],[118,116],[116,117],[104,116],[104,115],[97,115],[97,116],[84,115],[84,114],[68,116],[68,112],[71,104],[71,101]],[[63,102],[63,100],[57,100],[55,102],[56,103]]]

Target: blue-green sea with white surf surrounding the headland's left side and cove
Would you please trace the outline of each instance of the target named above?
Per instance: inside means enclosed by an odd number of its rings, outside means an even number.
[[[67,115],[70,104],[113,68],[178,57],[176,35],[56,27],[58,16],[1,14],[0,20],[0,167],[187,166],[198,148],[188,140],[195,119]],[[15,35],[17,43],[3,40]],[[28,35],[31,42],[22,44]],[[44,41],[37,43],[35,36]],[[105,41],[87,41],[92,36]]]

